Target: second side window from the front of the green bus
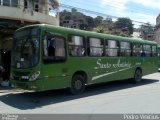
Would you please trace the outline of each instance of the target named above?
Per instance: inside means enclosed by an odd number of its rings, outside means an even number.
[[[68,41],[69,55],[84,56],[86,54],[84,37],[71,36]]]

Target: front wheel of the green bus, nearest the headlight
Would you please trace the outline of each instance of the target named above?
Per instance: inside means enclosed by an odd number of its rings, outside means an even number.
[[[74,95],[81,94],[85,90],[85,79],[82,75],[76,74],[73,76],[70,86],[70,92]]]

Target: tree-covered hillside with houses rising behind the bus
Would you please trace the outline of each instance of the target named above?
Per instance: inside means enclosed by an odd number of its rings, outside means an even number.
[[[113,22],[112,19],[104,19],[102,16],[97,16],[95,18],[86,16],[78,12],[75,8],[73,8],[71,12],[67,10],[60,12],[61,26],[66,25],[64,21],[72,21],[69,23],[69,27],[73,27],[71,26],[73,24],[76,25],[76,28],[81,30],[97,31],[119,36],[130,36],[133,33],[133,24],[129,18],[119,18],[117,21]]]

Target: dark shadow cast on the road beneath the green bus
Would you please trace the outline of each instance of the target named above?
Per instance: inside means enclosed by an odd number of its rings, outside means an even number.
[[[94,96],[103,93],[124,90],[132,87],[138,87],[158,82],[159,80],[143,79],[139,84],[130,84],[125,81],[114,81],[99,85],[88,86],[81,95],[70,95],[67,90],[52,90],[37,93],[10,93],[0,96],[0,100],[14,108],[21,110],[36,109],[50,104],[76,100],[88,96]]]

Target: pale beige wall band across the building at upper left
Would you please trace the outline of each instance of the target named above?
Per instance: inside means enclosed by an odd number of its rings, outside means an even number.
[[[4,19],[24,20],[30,22],[59,25],[58,18],[49,16],[48,14],[32,12],[28,9],[22,10],[20,8],[0,6],[0,15],[0,18]]]

